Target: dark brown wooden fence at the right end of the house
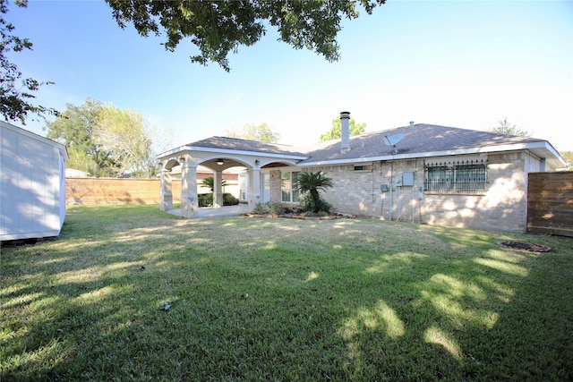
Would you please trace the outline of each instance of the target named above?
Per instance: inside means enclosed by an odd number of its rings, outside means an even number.
[[[573,237],[573,172],[529,173],[527,232]]]

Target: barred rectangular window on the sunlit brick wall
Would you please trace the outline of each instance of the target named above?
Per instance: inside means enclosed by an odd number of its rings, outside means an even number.
[[[487,185],[485,160],[426,165],[424,173],[424,191],[480,192]]]

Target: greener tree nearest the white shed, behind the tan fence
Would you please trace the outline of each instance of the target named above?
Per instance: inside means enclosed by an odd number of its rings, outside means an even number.
[[[88,98],[81,106],[67,104],[52,123],[46,121],[46,137],[63,143],[70,152],[68,166],[77,166],[93,176],[115,176],[118,164],[95,136],[103,106]]]

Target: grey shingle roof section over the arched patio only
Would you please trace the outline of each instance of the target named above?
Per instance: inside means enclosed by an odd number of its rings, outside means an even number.
[[[228,137],[210,137],[205,140],[197,140],[186,146],[206,149],[228,149],[236,151],[253,151],[269,154],[282,154],[289,156],[308,157],[304,149],[276,143],[264,143],[255,140],[241,140]]]

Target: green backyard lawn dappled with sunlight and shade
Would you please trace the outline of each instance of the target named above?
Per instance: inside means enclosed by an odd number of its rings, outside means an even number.
[[[0,379],[571,380],[572,242],[69,208],[2,248]]]

